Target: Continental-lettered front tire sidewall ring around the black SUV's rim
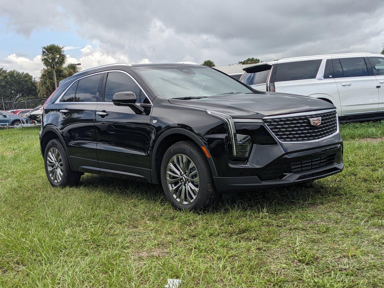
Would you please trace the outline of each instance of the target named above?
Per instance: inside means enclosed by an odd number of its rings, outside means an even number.
[[[197,172],[199,173],[199,194],[197,195],[197,198],[192,202],[191,204],[185,205],[177,202],[176,199],[174,199],[173,195],[169,191],[168,185],[167,185],[167,166],[170,161],[170,159],[177,155],[177,154],[184,154],[185,156],[188,156],[189,159],[191,159],[195,167],[197,169]],[[196,207],[202,207],[205,203],[206,198],[206,191],[207,191],[207,171],[204,171],[204,167],[201,164],[201,159],[195,154],[195,152],[191,151],[189,147],[183,145],[183,144],[177,144],[171,146],[164,154],[163,161],[161,163],[161,184],[164,190],[164,194],[166,195],[167,199],[171,203],[171,205],[177,209],[185,210],[185,209],[196,209]],[[210,172],[210,171],[209,171]]]

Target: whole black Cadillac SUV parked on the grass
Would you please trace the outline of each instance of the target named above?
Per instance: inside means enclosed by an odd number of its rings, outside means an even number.
[[[202,65],[78,72],[46,101],[40,146],[53,186],[84,173],[124,177],[161,184],[178,209],[343,170],[332,104],[257,91]]]

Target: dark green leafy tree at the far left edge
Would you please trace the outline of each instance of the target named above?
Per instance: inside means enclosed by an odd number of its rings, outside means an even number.
[[[1,101],[36,98],[36,80],[29,73],[0,68]]]

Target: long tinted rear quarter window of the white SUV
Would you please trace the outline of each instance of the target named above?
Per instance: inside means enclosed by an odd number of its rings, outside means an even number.
[[[314,79],[320,64],[321,59],[278,63],[275,82]]]

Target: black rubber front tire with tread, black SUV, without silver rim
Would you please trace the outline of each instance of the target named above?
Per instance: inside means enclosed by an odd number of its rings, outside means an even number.
[[[199,190],[196,195],[196,198],[190,204],[180,203],[179,201],[181,199],[177,200],[175,198],[177,196],[174,196],[174,194],[170,191],[170,188],[168,187],[168,183],[167,183],[168,164],[171,161],[171,159],[178,154],[187,156],[189,158],[188,160],[193,162],[194,168],[192,169],[197,170],[197,173],[198,173],[197,175],[199,176],[199,184],[198,184]],[[182,180],[180,180],[180,184],[181,184],[181,181]],[[207,158],[203,153],[203,151],[201,150],[201,148],[197,146],[193,141],[177,142],[168,148],[168,150],[164,154],[164,157],[161,163],[161,183],[164,189],[164,194],[166,195],[167,199],[169,200],[171,205],[178,210],[208,209],[209,207],[214,205],[218,200],[218,193],[215,189],[212,173],[211,173]],[[187,185],[189,185],[188,183],[185,183],[182,185],[187,187]],[[191,190],[192,189],[190,189],[189,191]],[[188,193],[188,192],[185,192],[185,193]]]

